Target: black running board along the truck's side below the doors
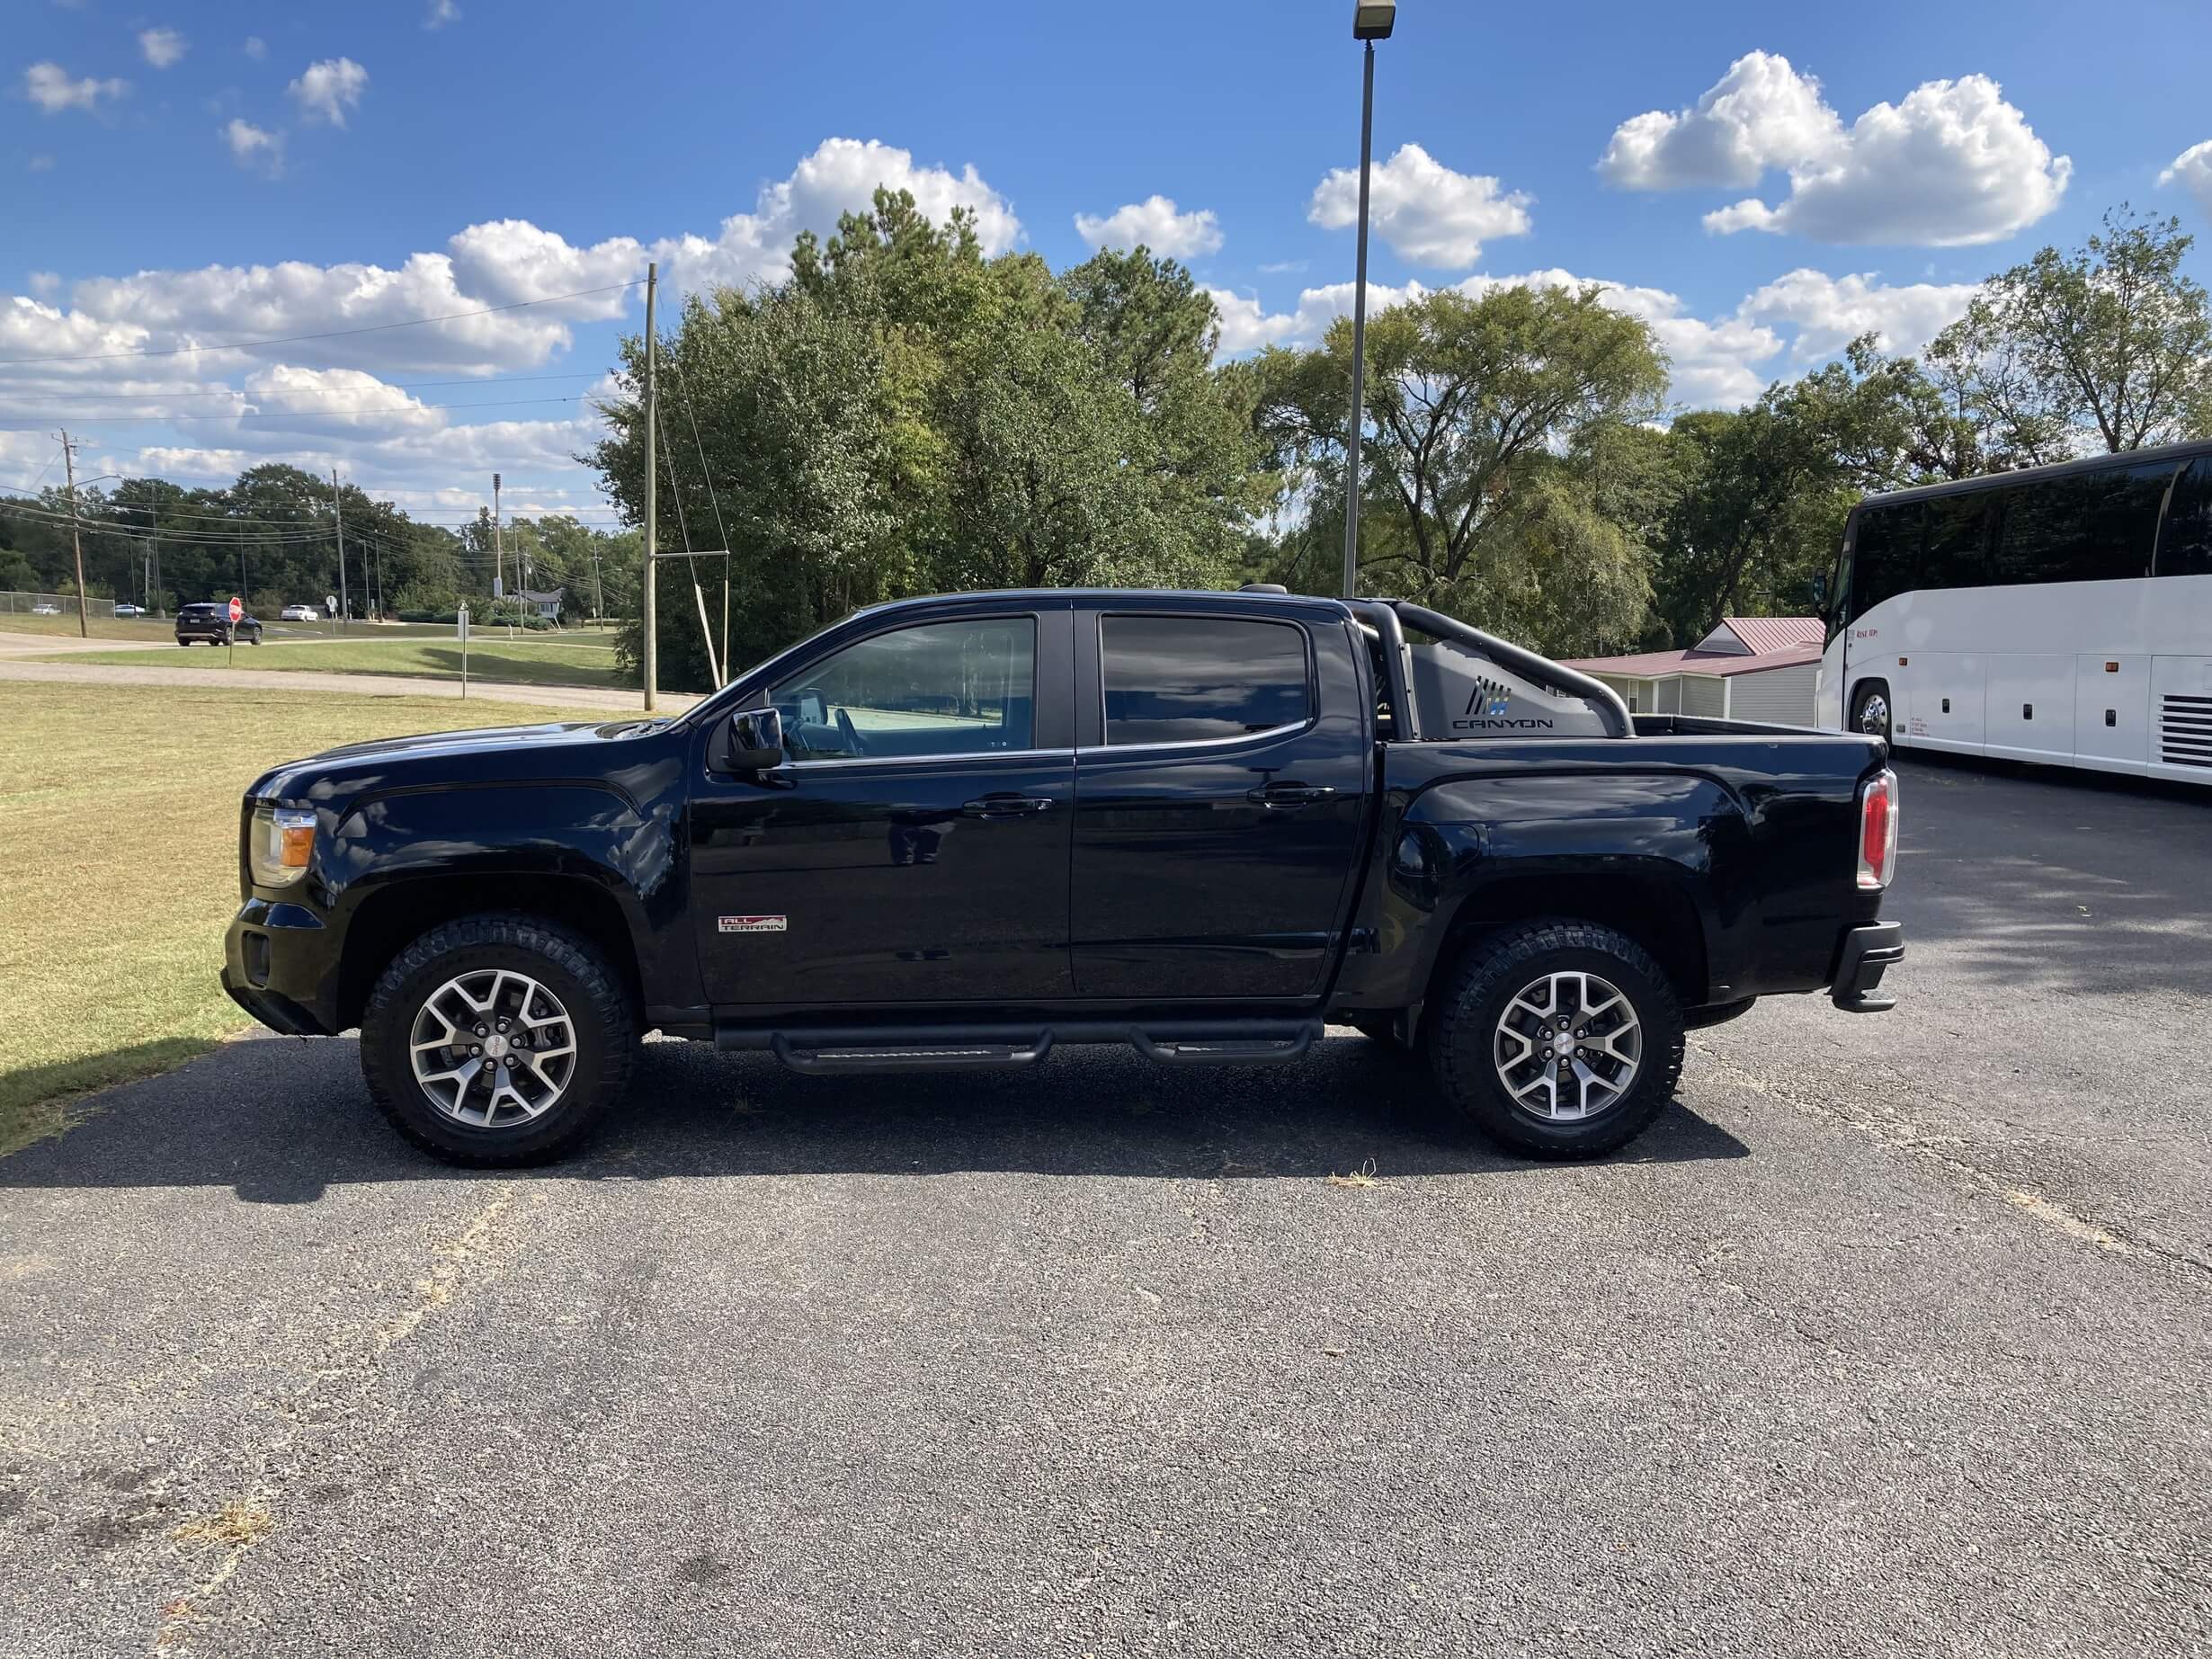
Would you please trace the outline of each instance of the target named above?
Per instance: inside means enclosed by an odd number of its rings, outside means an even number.
[[[876,1071],[1035,1066],[1060,1042],[1110,1042],[1161,1066],[1276,1066],[1303,1057],[1318,1020],[1066,1020],[1044,1026],[743,1026],[717,1024],[714,1046],[768,1051],[814,1077]]]

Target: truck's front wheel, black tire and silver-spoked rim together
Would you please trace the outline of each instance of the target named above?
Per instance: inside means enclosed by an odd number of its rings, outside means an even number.
[[[542,1164],[622,1095],[635,1020],[577,933],[531,916],[434,927],[385,969],[361,1018],[369,1097],[449,1164]]]

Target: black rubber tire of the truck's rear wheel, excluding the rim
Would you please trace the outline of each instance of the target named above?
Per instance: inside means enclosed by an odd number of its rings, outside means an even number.
[[[1628,998],[1644,1026],[1641,1064],[1613,1106],[1579,1119],[1544,1119],[1513,1102],[1491,1064],[1498,1020],[1542,975],[1584,969]],[[1650,1126],[1681,1079],[1683,1020],[1674,987],[1650,951],[1595,922],[1548,918],[1484,938],[1447,973],[1425,1026],[1429,1066],[1444,1099],[1484,1135],[1531,1157],[1619,1150]]]

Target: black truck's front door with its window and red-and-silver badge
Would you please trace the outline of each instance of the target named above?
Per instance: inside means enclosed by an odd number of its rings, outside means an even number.
[[[1066,633],[1066,611],[887,628],[768,690],[790,761],[706,772],[690,803],[717,1006],[1068,995]]]

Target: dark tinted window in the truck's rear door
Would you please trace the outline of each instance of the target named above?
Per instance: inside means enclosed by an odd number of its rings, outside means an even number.
[[[1296,726],[1305,635],[1239,617],[1106,617],[1108,743],[1190,743]]]

